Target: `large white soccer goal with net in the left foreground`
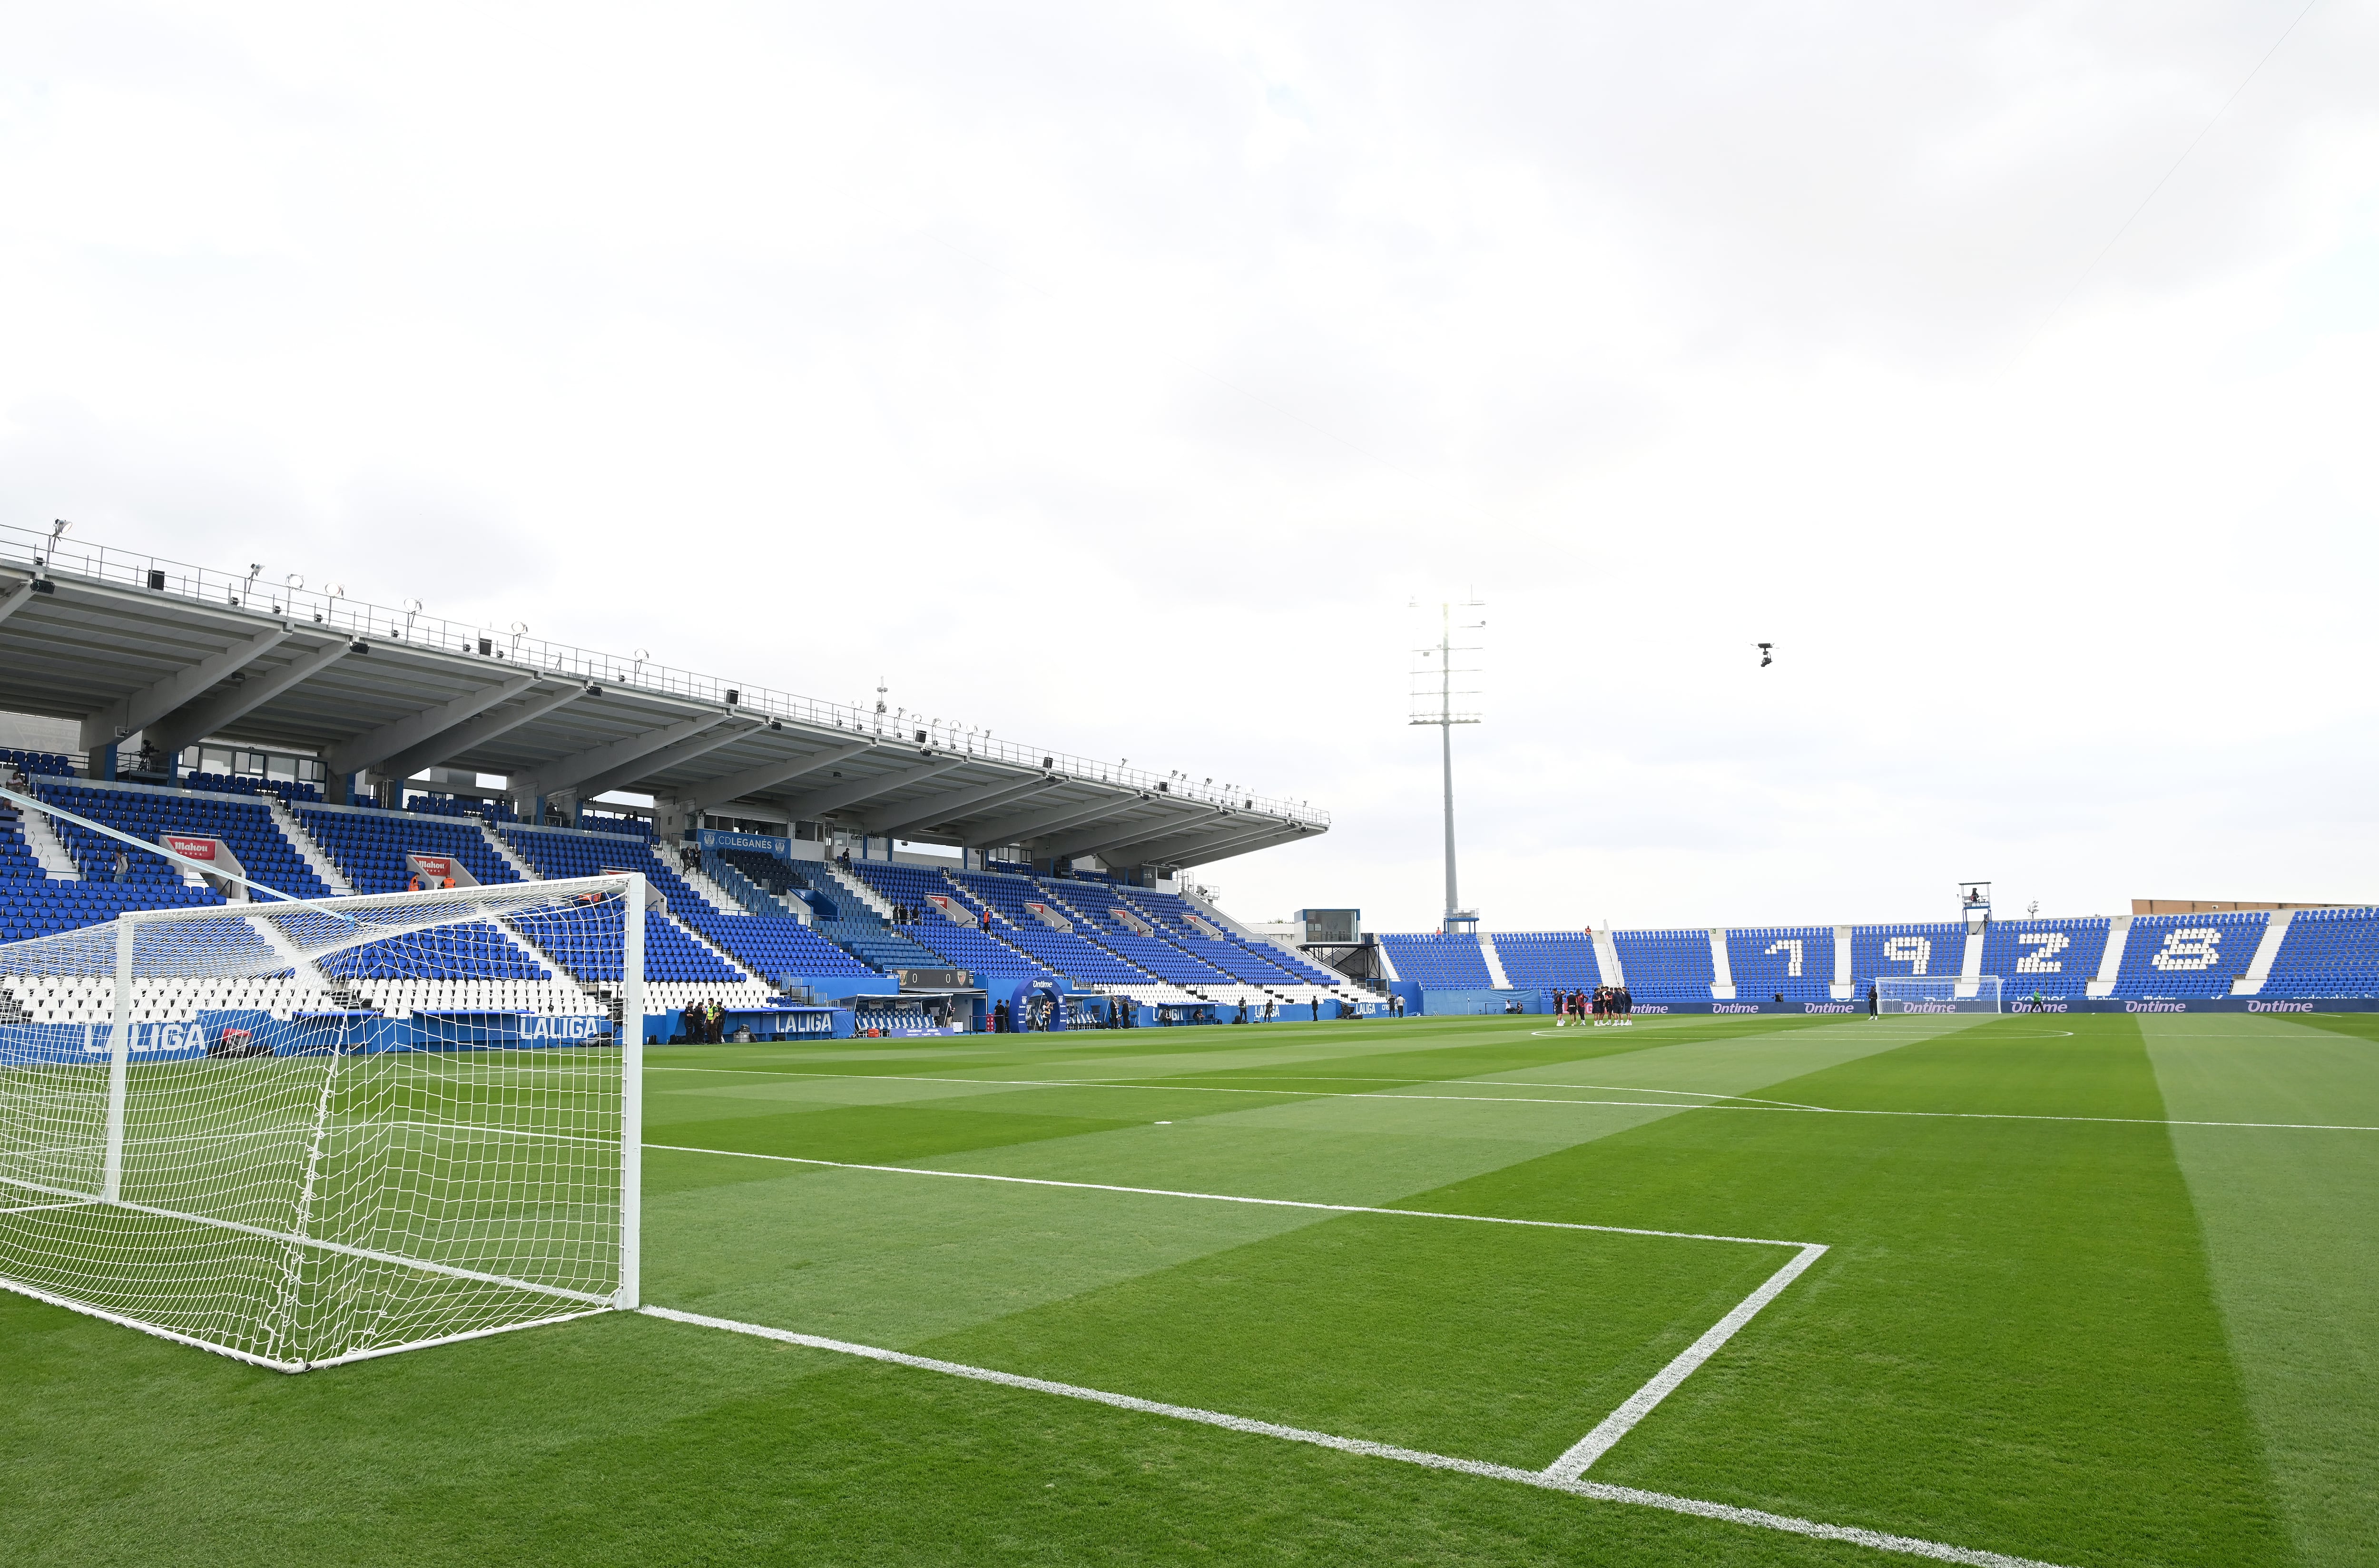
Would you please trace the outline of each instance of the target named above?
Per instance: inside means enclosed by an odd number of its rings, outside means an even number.
[[[209,904],[0,945],[0,1287],[281,1371],[633,1309],[645,897]]]

